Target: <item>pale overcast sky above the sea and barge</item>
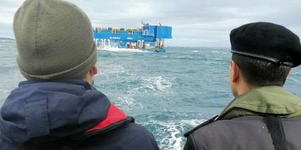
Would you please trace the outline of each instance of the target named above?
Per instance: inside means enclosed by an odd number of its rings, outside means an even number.
[[[83,9],[93,27],[139,28],[141,20],[173,27],[170,46],[229,47],[229,32],[268,21],[301,37],[301,0],[68,0]],[[24,0],[0,0],[0,37],[14,38],[12,21]]]

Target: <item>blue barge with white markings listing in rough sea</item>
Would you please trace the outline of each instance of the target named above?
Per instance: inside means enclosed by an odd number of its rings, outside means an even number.
[[[172,39],[172,27],[145,24],[142,28],[93,28],[97,47],[118,47],[164,53],[164,39]]]

